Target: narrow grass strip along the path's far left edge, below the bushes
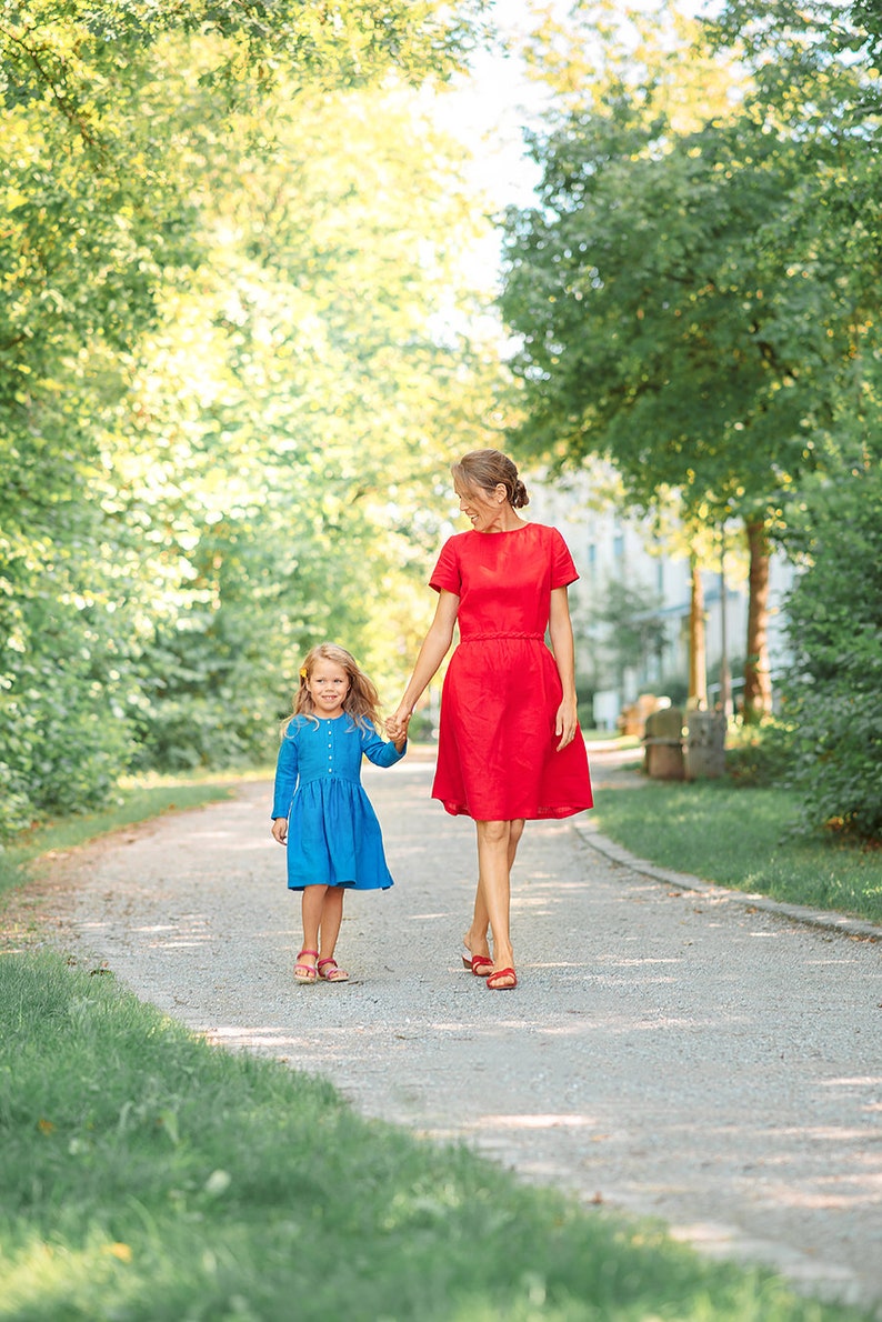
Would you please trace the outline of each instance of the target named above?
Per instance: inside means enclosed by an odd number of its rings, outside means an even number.
[[[237,776],[237,780],[243,779]],[[218,798],[229,798],[230,780],[201,776],[145,776],[123,781],[115,801],[97,813],[62,817],[42,822],[16,837],[0,853],[0,895],[28,879],[29,865],[41,855],[75,849],[99,836],[159,817],[180,808],[198,808]]]

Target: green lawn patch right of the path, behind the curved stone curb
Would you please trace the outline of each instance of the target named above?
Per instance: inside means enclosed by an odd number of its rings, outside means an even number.
[[[596,798],[598,828],[661,867],[882,923],[882,850],[796,836],[799,801],[787,791],[651,780]]]

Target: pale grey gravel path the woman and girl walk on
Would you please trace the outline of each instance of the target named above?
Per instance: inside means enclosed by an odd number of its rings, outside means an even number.
[[[582,820],[533,822],[521,986],[491,993],[459,958],[473,826],[430,801],[431,769],[365,768],[397,886],[346,898],[348,984],[292,984],[299,896],[266,784],[61,859],[52,941],[214,1042],[329,1076],[369,1116],[882,1318],[873,929],[684,890],[606,857]]]

